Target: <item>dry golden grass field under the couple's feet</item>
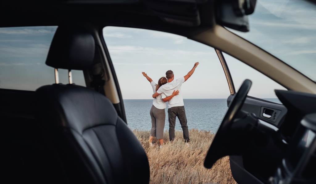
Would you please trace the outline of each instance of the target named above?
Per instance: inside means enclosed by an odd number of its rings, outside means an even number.
[[[149,147],[149,131],[134,130],[142,143],[150,165],[150,183],[236,183],[230,172],[228,157],[217,161],[212,169],[203,166],[205,155],[214,137],[208,131],[190,130],[190,146],[183,140],[182,131],[176,131],[176,139],[169,142],[168,132],[164,133],[165,145],[160,149],[154,138]]]

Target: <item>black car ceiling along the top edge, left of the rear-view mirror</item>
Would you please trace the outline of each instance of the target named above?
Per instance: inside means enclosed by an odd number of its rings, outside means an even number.
[[[147,2],[146,0],[144,2]],[[75,3],[79,2],[79,3]],[[161,28],[182,28],[175,24],[167,23],[162,18],[165,16],[177,16],[185,9],[178,9],[174,12],[161,13],[150,9],[148,3],[137,4],[106,4],[103,1],[91,1],[92,3],[82,3],[86,1],[49,1],[49,3],[24,3],[2,2],[0,3],[0,15],[7,17],[2,19],[0,27],[16,26],[56,26],[67,22],[91,22],[99,24],[119,24],[119,25],[146,25]],[[95,3],[100,2],[100,3]],[[111,2],[111,1],[105,1]],[[163,7],[163,5],[161,5]],[[201,19],[199,26],[213,26],[213,1],[197,5],[198,14]],[[190,18],[184,14],[181,18]],[[192,26],[193,27],[193,26]]]

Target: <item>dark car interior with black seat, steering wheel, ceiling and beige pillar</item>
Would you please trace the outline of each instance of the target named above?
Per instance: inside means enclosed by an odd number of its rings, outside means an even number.
[[[148,158],[127,126],[102,36],[104,27],[120,26],[173,33],[215,48],[231,95],[206,168],[229,156],[240,184],[315,183],[315,81],[227,29],[248,32],[247,16],[255,6],[256,0],[2,1],[0,15],[6,18],[0,27],[58,26],[45,61],[55,83],[36,91],[0,86],[4,178],[149,183]],[[222,52],[288,89],[275,90],[282,104],[247,96],[250,80],[234,86]],[[68,71],[68,83],[59,82],[58,69]],[[73,70],[83,71],[86,87],[72,82]]]

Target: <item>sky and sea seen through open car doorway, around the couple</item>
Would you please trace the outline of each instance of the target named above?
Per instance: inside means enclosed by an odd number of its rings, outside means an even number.
[[[179,35],[152,30],[105,27],[103,36],[113,62],[131,129],[149,130],[153,89],[146,72],[157,83],[167,70],[174,78],[196,71],[181,88],[189,129],[215,133],[227,110],[230,95],[221,63],[213,48]],[[166,108],[166,116],[167,116]],[[165,130],[168,130],[168,116]],[[182,130],[176,120],[176,130]]]

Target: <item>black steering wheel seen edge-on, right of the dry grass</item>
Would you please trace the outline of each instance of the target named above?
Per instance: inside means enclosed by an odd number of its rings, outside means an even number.
[[[232,101],[230,102],[222,124],[218,128],[210,149],[205,157],[204,167],[210,169],[218,159],[234,153],[234,149],[228,145],[231,140],[228,138],[230,136],[229,130],[236,118],[236,114],[240,111],[246,100],[251,84],[252,82],[246,79],[241,84],[238,92],[234,95]]]

